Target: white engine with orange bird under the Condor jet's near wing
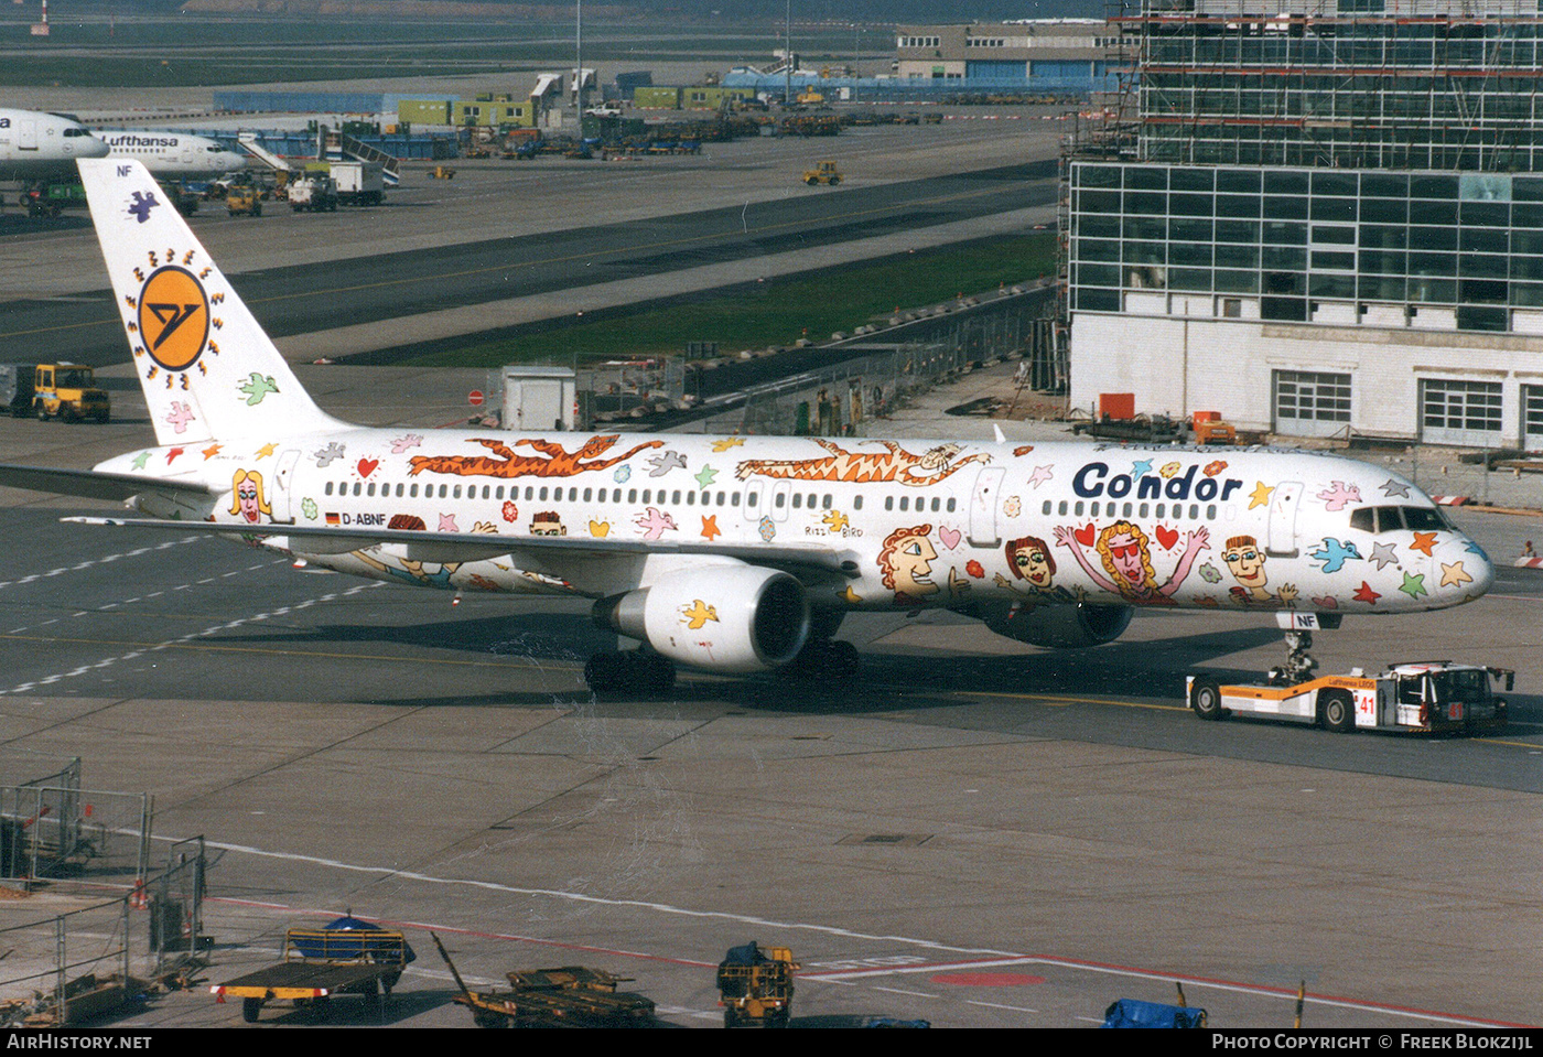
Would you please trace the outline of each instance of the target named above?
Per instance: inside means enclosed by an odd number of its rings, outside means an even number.
[[[596,622],[693,668],[765,671],[787,664],[809,639],[809,597],[787,572],[722,565],[674,572],[602,599]]]

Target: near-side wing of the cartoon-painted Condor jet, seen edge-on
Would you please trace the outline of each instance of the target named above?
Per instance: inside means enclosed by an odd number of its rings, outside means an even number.
[[[137,491],[143,492],[143,478]],[[327,528],[319,525],[233,525],[228,522],[174,522],[162,518],[133,517],[66,517],[73,525],[106,525],[114,528],[160,529],[171,532],[207,532],[210,535],[259,535],[287,537],[290,549],[301,554],[347,554],[370,546],[393,545],[406,551],[404,557],[420,562],[481,562],[520,554],[539,557],[542,562],[562,559],[583,560],[586,556],[613,557],[620,554],[704,554],[730,557],[748,565],[764,565],[781,569],[807,569],[858,576],[852,556],[818,543],[711,543],[707,540],[623,540],[611,537],[568,535],[492,535],[481,532],[429,532],[387,528]]]

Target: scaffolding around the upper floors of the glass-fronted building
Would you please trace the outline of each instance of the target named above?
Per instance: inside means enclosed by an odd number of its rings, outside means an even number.
[[[1109,20],[1142,160],[1538,168],[1532,0],[1116,0]]]

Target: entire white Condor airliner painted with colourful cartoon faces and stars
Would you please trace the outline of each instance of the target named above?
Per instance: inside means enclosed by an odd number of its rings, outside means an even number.
[[[0,483],[127,498],[96,523],[235,535],[339,572],[566,594],[676,665],[850,671],[850,611],[950,608],[1042,647],[1136,606],[1288,626],[1481,596],[1494,569],[1410,481],[1305,452],[1086,443],[366,429],[332,418],[134,162],[82,162],[156,446]]]

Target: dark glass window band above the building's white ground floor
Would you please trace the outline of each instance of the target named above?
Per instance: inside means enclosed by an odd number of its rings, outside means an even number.
[[[1264,319],[1378,302],[1508,330],[1543,307],[1543,176],[1074,162],[1069,184],[1072,310],[1170,290],[1256,298]]]

